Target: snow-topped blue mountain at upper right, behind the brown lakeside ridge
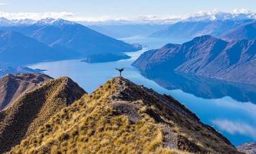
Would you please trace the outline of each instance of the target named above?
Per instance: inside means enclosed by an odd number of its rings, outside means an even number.
[[[235,29],[255,21],[256,13],[254,12],[197,12],[194,15],[184,17],[180,22],[169,25],[167,28],[153,32],[150,37],[193,39],[201,35],[212,35],[221,38]],[[234,35],[232,39],[238,39],[237,36]]]

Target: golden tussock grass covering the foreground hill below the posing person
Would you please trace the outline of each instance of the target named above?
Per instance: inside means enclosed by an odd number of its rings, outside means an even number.
[[[181,153],[163,148],[163,133],[147,115],[132,124],[126,115],[114,115],[111,82],[62,109],[38,132],[22,140],[11,153]]]

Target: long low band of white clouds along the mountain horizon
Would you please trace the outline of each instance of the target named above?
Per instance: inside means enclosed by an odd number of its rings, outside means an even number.
[[[1,3],[0,3],[1,5]],[[243,14],[243,15],[241,15]],[[0,17],[8,19],[64,18],[76,22],[136,22],[136,23],[173,23],[181,20],[215,20],[218,18],[256,18],[256,13],[247,9],[235,9],[232,12],[200,11],[186,15],[138,15],[134,17],[99,17],[79,16],[73,12],[0,12]]]

